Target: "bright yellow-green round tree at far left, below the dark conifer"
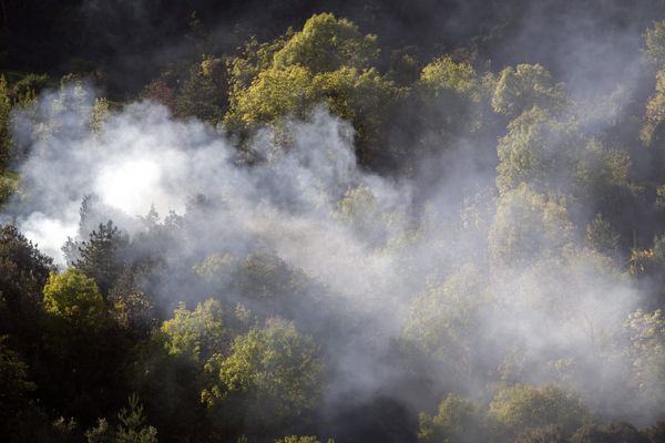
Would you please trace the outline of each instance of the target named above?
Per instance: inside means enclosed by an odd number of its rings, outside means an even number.
[[[106,318],[106,306],[94,280],[71,268],[49,277],[44,309],[74,327],[96,329]]]

